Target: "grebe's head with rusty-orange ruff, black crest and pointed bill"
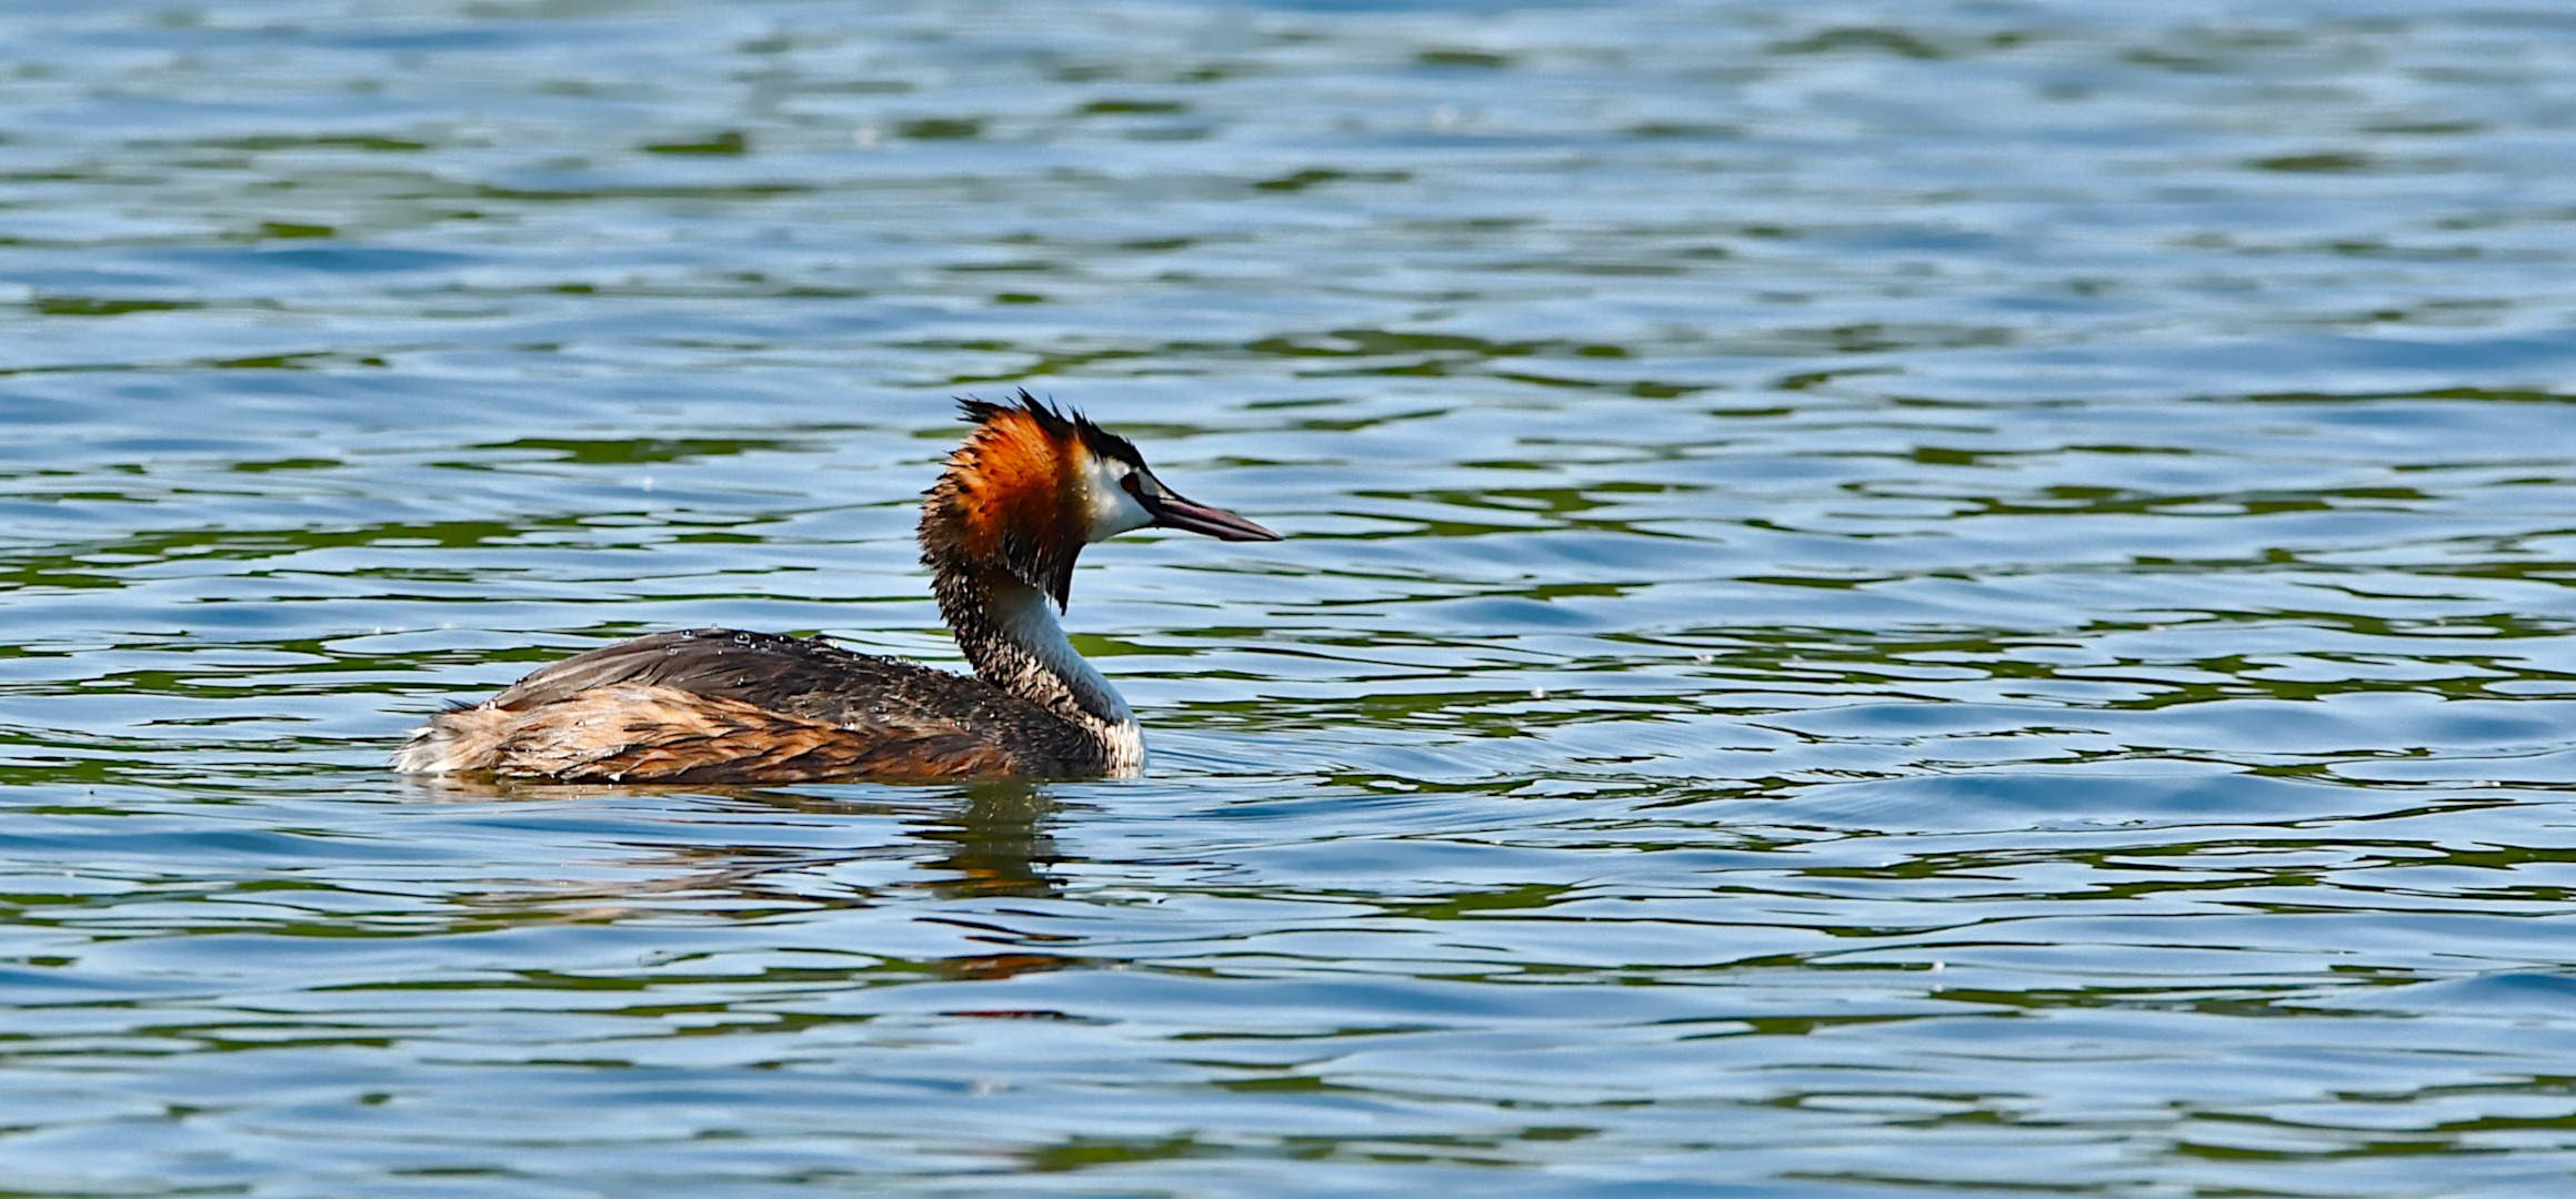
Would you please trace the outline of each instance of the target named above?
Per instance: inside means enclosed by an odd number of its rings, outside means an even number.
[[[1234,512],[1182,499],[1126,437],[1025,389],[1018,404],[961,399],[976,430],[948,455],[922,504],[922,563],[951,574],[1002,574],[1064,607],[1082,545],[1139,527],[1218,540],[1280,540]]]

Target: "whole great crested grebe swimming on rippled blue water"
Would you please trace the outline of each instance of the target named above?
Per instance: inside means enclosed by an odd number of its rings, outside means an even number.
[[[1082,545],[1139,527],[1280,540],[1193,504],[1082,414],[961,399],[922,566],[974,677],[822,638],[698,628],[580,654],[412,731],[394,769],[590,782],[1082,777],[1144,769],[1136,713],[1046,610]]]

